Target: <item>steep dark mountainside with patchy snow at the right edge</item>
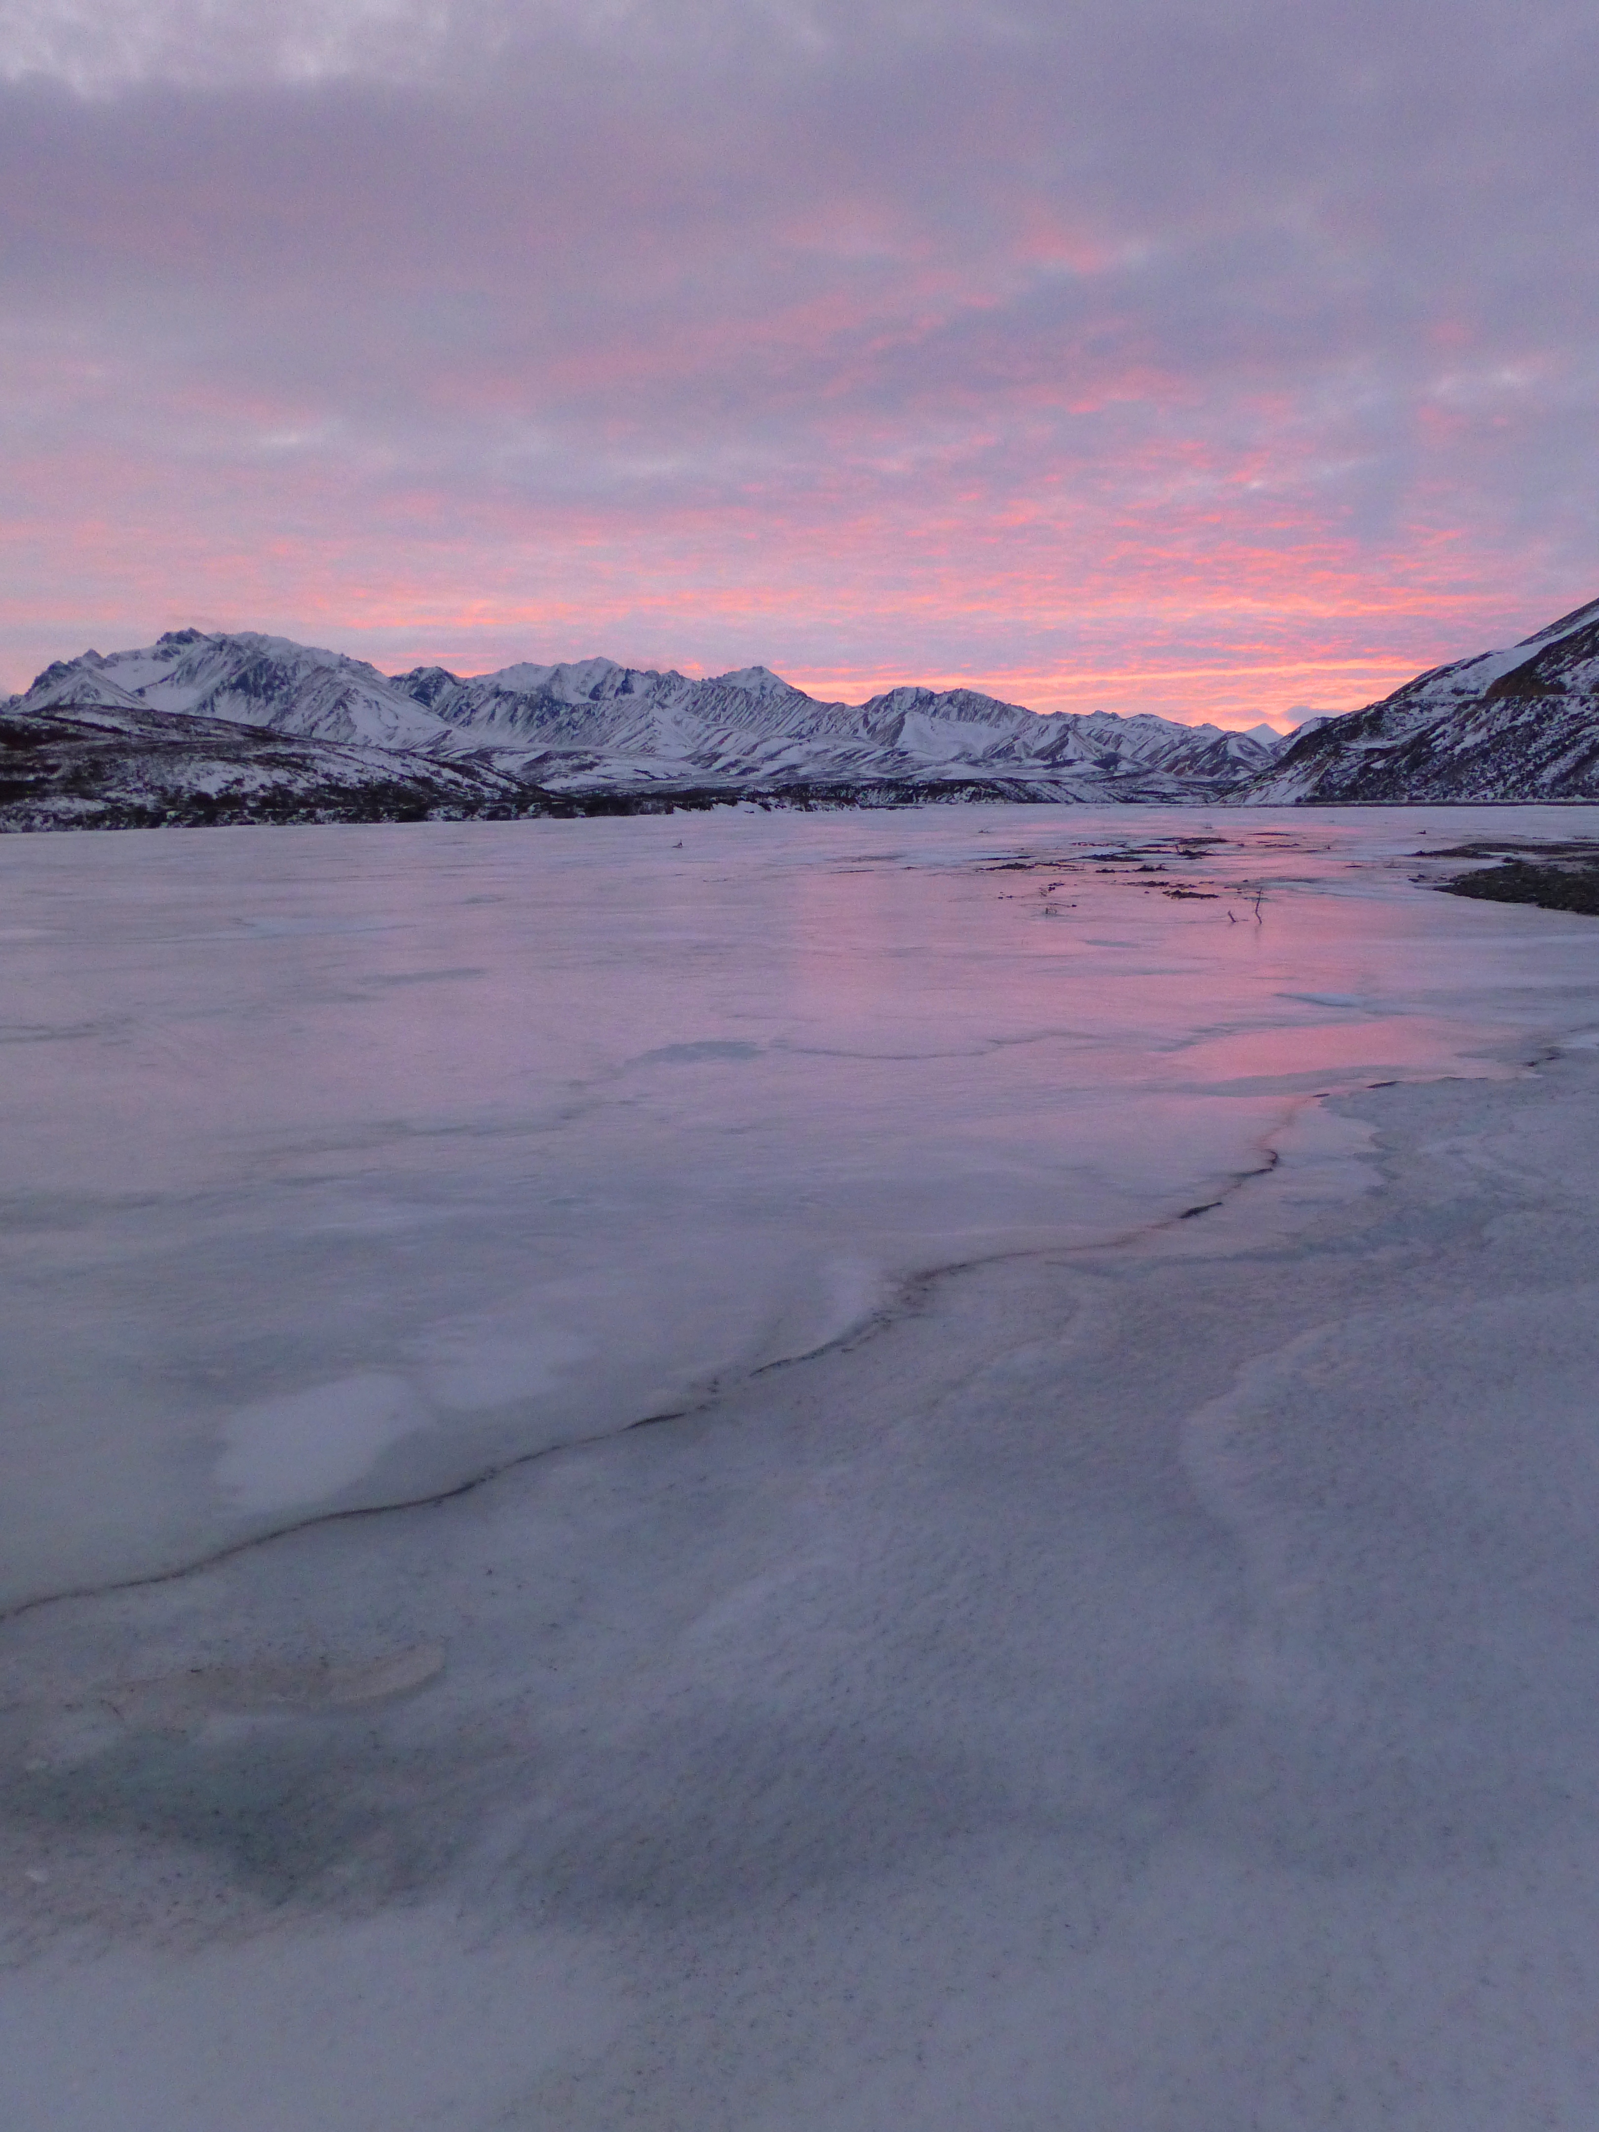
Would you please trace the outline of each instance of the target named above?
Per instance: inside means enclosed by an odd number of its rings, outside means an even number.
[[[1239,797],[1273,806],[1599,800],[1599,599],[1501,652],[1320,718]]]

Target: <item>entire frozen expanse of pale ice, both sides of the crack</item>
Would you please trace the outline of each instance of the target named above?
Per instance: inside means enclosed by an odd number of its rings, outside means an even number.
[[[1597,829],[0,846],[9,2121],[1586,2126]]]

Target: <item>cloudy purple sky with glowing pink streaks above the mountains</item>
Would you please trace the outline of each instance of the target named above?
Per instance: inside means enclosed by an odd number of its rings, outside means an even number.
[[[0,0],[0,687],[1347,710],[1599,595],[1593,0]]]

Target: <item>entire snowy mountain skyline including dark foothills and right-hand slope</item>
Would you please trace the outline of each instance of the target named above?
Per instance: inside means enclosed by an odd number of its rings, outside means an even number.
[[[254,631],[83,652],[0,704],[0,827],[667,806],[1599,797],[1599,601],[1298,733],[1038,714],[972,689],[821,701],[768,667],[379,674]]]

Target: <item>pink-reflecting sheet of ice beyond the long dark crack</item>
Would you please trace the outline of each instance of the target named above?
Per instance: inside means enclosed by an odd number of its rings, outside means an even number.
[[[4,1599],[676,1411],[906,1275],[1215,1198],[1307,1094],[1503,1068],[1595,1017],[1588,936],[1418,895],[1477,829],[6,838]]]

